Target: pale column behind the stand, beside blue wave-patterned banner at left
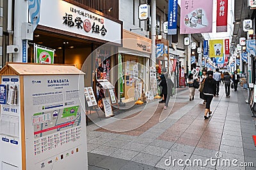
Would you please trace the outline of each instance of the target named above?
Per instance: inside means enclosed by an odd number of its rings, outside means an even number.
[[[14,54],[13,62],[22,62],[21,26],[23,22],[28,22],[28,1],[19,0],[14,2],[13,45],[19,47],[19,53]]]

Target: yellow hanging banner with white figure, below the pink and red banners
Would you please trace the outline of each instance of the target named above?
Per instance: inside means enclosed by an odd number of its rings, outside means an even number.
[[[219,58],[223,56],[223,40],[210,40],[210,58]]]

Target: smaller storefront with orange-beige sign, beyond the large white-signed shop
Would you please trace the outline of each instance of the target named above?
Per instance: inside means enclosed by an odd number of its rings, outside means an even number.
[[[123,75],[120,77],[123,87],[120,89],[120,97],[124,98],[123,102],[129,102],[138,100],[145,91],[148,91],[147,72],[152,53],[152,40],[127,30],[123,30],[123,37],[123,47],[118,49]]]

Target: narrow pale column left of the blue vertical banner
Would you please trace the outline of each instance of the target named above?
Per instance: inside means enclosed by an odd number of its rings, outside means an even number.
[[[156,0],[151,1],[152,66],[156,66]]]

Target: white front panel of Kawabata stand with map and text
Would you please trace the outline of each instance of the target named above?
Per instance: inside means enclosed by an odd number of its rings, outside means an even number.
[[[26,169],[87,169],[83,76],[24,76]]]

